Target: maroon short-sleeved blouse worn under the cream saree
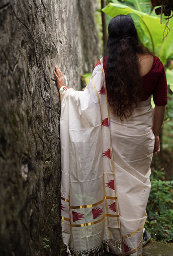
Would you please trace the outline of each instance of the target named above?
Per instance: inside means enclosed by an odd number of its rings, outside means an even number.
[[[107,58],[103,57],[103,69],[105,77],[107,76]],[[96,64],[99,65],[100,60]],[[167,104],[167,82],[164,65],[160,59],[153,55],[153,65],[149,72],[142,76],[143,79],[143,96],[142,101],[147,100],[153,95],[153,100],[157,106],[165,106]]]

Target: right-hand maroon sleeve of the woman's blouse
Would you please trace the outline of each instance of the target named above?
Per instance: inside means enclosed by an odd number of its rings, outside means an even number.
[[[163,72],[155,85],[153,100],[157,106],[165,106],[167,104],[167,82],[164,67]]]

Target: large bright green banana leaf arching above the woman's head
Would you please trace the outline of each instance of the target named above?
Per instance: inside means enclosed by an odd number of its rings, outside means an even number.
[[[138,5],[140,2],[137,0],[128,0],[128,2],[129,1],[133,3],[138,2]],[[125,6],[124,4],[109,3],[102,9],[102,11],[112,18],[119,14],[131,15],[140,40],[151,51],[160,56],[160,59],[164,65],[166,64],[166,59],[170,59],[173,56],[173,47],[171,44],[171,42],[173,42],[173,19],[171,19],[169,22],[169,28],[172,30],[172,32],[170,32],[164,42],[162,42],[165,24],[160,24],[159,17],[148,15],[132,7]]]

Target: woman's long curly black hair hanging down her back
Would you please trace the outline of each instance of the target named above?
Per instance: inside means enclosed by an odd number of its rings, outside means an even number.
[[[108,25],[107,95],[110,109],[121,120],[130,117],[142,95],[139,54],[150,53],[140,43],[133,19],[118,15]]]

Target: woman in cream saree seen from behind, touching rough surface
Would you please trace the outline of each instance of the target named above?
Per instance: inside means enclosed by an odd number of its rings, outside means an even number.
[[[109,56],[100,59],[85,90],[61,96],[61,218],[69,255],[142,255],[150,163],[160,151],[167,104],[164,67],[139,42],[131,17],[108,26]],[[156,104],[154,114],[151,95]],[[145,237],[146,236],[146,237]]]

